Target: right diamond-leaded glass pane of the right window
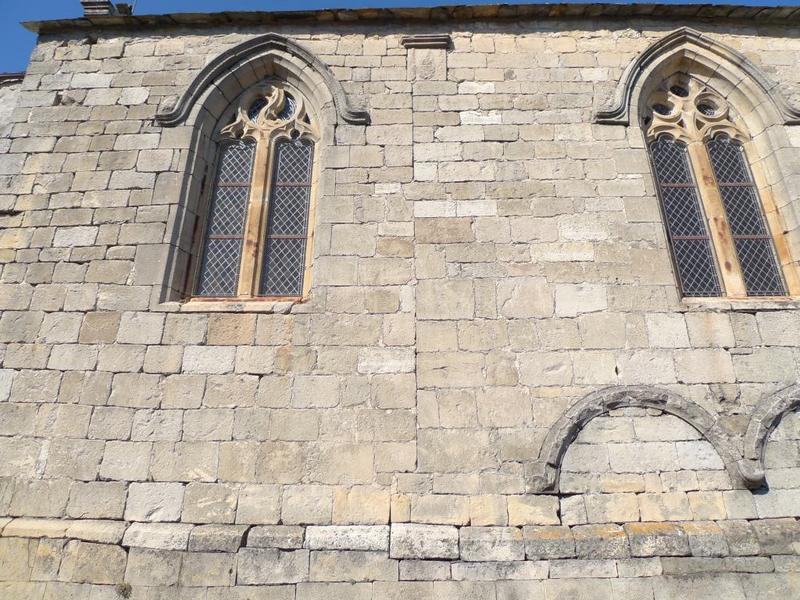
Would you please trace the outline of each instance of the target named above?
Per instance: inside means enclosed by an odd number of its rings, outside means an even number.
[[[785,295],[786,287],[744,148],[724,136],[709,140],[706,147],[733,234],[747,295]]]

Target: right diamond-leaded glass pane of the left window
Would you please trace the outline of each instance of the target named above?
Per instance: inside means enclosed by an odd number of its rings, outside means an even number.
[[[314,146],[281,140],[275,147],[261,294],[300,296],[308,236]]]

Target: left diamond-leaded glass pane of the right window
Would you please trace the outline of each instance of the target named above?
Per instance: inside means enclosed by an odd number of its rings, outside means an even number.
[[[650,144],[650,153],[681,290],[685,296],[719,296],[716,261],[686,146],[662,137]]]

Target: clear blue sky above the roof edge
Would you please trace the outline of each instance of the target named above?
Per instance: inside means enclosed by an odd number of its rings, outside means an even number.
[[[129,0],[132,1],[132,0]],[[514,0],[507,0],[513,2]],[[523,1],[523,0],[518,0]],[[618,0],[619,1],[619,0]],[[663,0],[662,0],[663,1]],[[318,8],[358,8],[364,6],[436,6],[440,4],[479,4],[474,0],[138,0],[138,14],[170,12],[217,12],[222,10],[293,10]],[[627,2],[625,2],[627,3]],[[691,2],[666,1],[666,4],[708,4],[708,0]],[[729,0],[714,4],[747,4],[755,6],[800,5],[800,0]],[[82,14],[80,0],[0,0],[0,73],[25,70],[35,36],[19,25],[20,21],[39,21],[78,17]]]

